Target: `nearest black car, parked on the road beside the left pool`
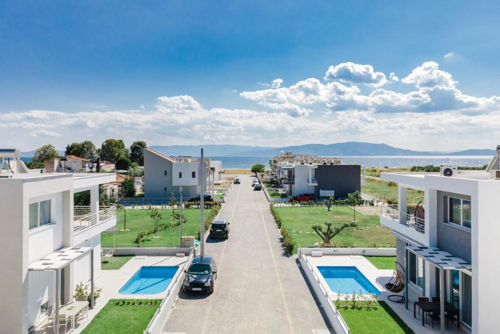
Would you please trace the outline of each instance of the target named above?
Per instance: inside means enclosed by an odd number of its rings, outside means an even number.
[[[217,279],[215,261],[209,255],[196,256],[189,269],[184,270],[184,292],[213,292],[213,282]]]

